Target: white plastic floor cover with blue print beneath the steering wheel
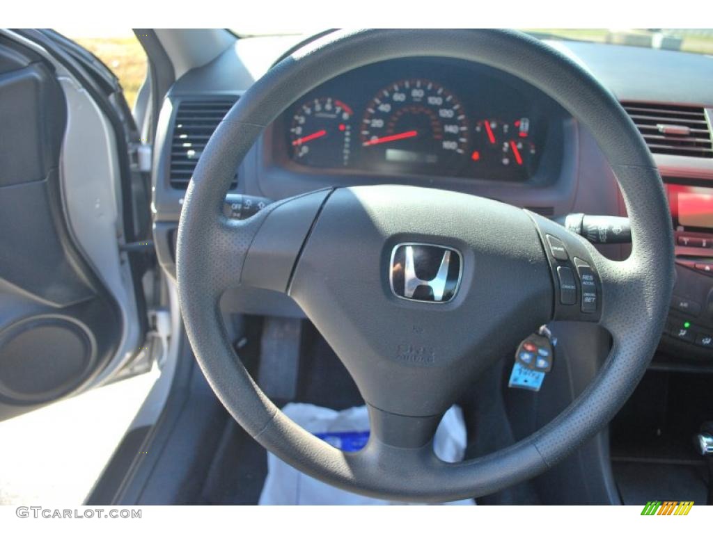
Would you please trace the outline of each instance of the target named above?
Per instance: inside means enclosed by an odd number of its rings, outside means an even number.
[[[313,404],[287,404],[282,411],[305,430],[344,451],[361,448],[369,437],[369,414],[366,406],[336,412]],[[466,424],[463,413],[457,406],[446,412],[434,437],[434,451],[443,461],[463,459],[466,451]],[[320,505],[320,504],[403,504],[364,497],[344,491],[316,478],[305,475],[274,454],[267,453],[267,478],[262,487],[260,504]],[[453,501],[447,504],[473,505],[473,499]]]

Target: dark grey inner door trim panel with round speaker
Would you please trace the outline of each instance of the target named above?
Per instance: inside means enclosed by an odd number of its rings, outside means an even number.
[[[0,419],[86,388],[122,342],[126,316],[68,230],[67,120],[51,63],[0,36]]]

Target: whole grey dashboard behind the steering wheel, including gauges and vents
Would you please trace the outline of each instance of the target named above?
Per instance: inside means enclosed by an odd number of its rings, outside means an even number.
[[[235,100],[298,40],[238,39],[176,80],[165,98],[152,207],[159,261],[172,276],[191,174],[185,168],[195,166]],[[628,46],[548,45],[583,63],[620,100],[667,187],[677,283],[654,365],[694,362],[696,370],[708,365],[713,372],[713,145],[706,145],[713,143],[713,61]],[[196,114],[202,118],[193,125]],[[687,125],[699,137],[662,136],[669,124]],[[671,143],[665,150],[662,140]],[[610,165],[574,117],[538,88],[456,58],[375,63],[319,85],[265,128],[236,169],[231,193],[278,200],[360,184],[437,187],[552,218],[626,215]],[[612,259],[628,255],[626,245],[597,248]],[[235,313],[302,316],[292,300],[269,291],[235,290],[224,305]]]

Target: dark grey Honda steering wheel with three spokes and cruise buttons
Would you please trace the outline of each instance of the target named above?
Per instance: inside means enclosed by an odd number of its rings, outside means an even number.
[[[630,257],[610,261],[580,236],[515,206],[420,187],[335,187],[277,201],[244,221],[221,214],[238,164],[290,104],[347,70],[416,56],[504,70],[587,127],[625,200]],[[662,182],[617,100],[545,44],[493,30],[342,31],[278,63],[205,147],[183,203],[177,267],[198,363],[252,437],[334,486],[421,502],[478,497],[523,481],[602,429],[650,362],[674,280]],[[314,323],[369,409],[364,449],[335,449],[260,391],[220,317],[220,295],[235,286],[286,293]],[[593,382],[552,422],[506,449],[453,464],[438,459],[432,439],[446,409],[550,320],[609,331],[612,349]]]

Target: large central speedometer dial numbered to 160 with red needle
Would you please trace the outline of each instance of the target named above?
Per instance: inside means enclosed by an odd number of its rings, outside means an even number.
[[[453,93],[430,80],[401,80],[381,89],[359,130],[362,156],[377,167],[455,172],[466,162],[466,113]]]

